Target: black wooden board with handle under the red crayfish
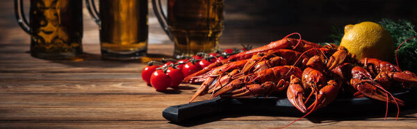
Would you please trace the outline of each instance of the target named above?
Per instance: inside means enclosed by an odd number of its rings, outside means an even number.
[[[417,100],[417,88],[393,94],[406,103],[414,106]],[[401,107],[404,108],[404,107]],[[389,109],[396,111],[396,106],[390,104]],[[369,114],[386,110],[386,103],[370,98],[339,98],[326,107],[314,111],[314,114]],[[207,101],[174,105],[163,110],[163,117],[172,123],[184,123],[190,120],[210,116],[210,114],[239,113],[268,113],[281,116],[297,116],[303,114],[297,110],[287,98],[256,97],[256,98],[214,98]]]

